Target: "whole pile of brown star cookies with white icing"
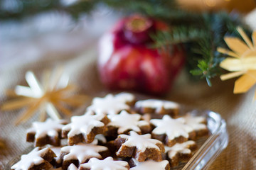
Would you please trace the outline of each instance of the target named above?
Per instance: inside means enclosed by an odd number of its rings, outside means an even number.
[[[35,148],[11,169],[170,169],[188,161],[195,140],[208,135],[206,118],[179,115],[171,101],[137,101],[133,94],[94,98],[84,115],[34,122]]]

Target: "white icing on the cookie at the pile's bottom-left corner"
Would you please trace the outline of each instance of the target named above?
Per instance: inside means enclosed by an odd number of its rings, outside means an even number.
[[[48,150],[48,147],[41,150],[39,150],[39,147],[36,147],[28,154],[23,154],[21,156],[21,160],[14,164],[13,166],[11,166],[11,169],[28,170],[34,165],[43,163],[45,160],[42,157],[48,152]]]

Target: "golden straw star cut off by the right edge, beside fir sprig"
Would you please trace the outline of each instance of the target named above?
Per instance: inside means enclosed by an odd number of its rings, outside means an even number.
[[[220,67],[231,73],[223,74],[220,79],[227,80],[239,77],[235,81],[234,94],[245,93],[256,84],[256,30],[252,33],[252,41],[247,37],[242,28],[238,28],[242,39],[225,37],[224,40],[231,50],[218,47],[218,52],[228,55]],[[256,91],[255,97],[256,99]]]

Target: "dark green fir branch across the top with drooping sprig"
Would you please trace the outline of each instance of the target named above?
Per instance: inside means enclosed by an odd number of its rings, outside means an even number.
[[[210,79],[221,73],[219,64],[223,56],[216,52],[216,48],[225,47],[224,36],[238,36],[236,33],[238,26],[250,31],[237,14],[191,13],[178,8],[174,0],[80,0],[70,6],[63,6],[60,0],[17,0],[17,2],[21,8],[16,11],[4,11],[1,8],[0,19],[22,18],[52,10],[70,13],[74,18],[78,18],[81,13],[90,13],[97,6],[105,5],[124,13],[142,13],[164,21],[171,29],[151,35],[155,42],[154,47],[178,43],[185,45],[188,53],[188,69],[193,76],[205,78],[209,86],[211,86]]]

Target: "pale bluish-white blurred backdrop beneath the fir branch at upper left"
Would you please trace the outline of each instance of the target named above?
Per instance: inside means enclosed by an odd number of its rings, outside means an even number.
[[[29,13],[24,4],[43,9]],[[41,57],[75,57],[117,20],[117,16],[103,6],[90,16],[81,13],[78,18],[58,8],[47,10],[47,6],[51,6],[50,1],[1,1],[1,69],[34,62]]]

